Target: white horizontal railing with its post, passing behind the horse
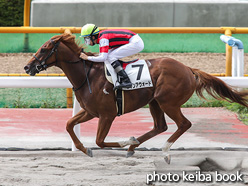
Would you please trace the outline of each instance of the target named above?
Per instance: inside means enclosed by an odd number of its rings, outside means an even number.
[[[248,77],[219,77],[231,86],[248,88]],[[0,88],[71,88],[72,85],[66,77],[0,77]],[[73,116],[80,110],[80,105],[74,99]],[[80,139],[80,125],[74,127]],[[76,147],[72,143],[72,151]]]

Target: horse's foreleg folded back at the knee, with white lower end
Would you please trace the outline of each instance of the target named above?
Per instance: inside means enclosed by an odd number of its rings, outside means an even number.
[[[135,145],[139,144],[139,141],[136,140],[134,137],[131,137],[127,141],[121,141],[121,142],[104,142],[106,136],[108,135],[108,132],[110,130],[110,127],[114,121],[114,117],[100,117],[98,122],[98,129],[97,129],[97,137],[96,137],[96,144],[101,147],[125,147],[127,145]]]

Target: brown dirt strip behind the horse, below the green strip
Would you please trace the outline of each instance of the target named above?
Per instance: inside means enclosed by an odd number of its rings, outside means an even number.
[[[0,53],[1,69],[0,73],[25,73],[23,67],[31,59],[31,53]],[[152,59],[160,57],[170,57],[183,64],[203,70],[207,73],[225,73],[225,54],[221,53],[140,53],[125,60],[135,58]],[[245,55],[244,61],[248,60],[248,54]],[[245,73],[248,72],[248,64],[245,63]],[[42,73],[62,73],[58,68],[52,67]]]

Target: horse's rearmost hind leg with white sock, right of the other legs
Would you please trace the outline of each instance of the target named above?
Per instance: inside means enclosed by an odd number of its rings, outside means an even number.
[[[167,140],[167,142],[162,147],[162,151],[165,155],[164,157],[165,161],[167,163],[170,163],[170,155],[169,155],[170,147],[184,132],[186,132],[191,127],[192,124],[187,118],[184,117],[180,107],[163,105],[161,106],[161,108],[172,120],[175,121],[178,127],[176,132],[172,134],[172,136]]]

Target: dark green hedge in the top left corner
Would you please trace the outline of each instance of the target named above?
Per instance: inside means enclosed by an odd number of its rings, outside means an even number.
[[[23,25],[24,0],[0,0],[0,26]]]

